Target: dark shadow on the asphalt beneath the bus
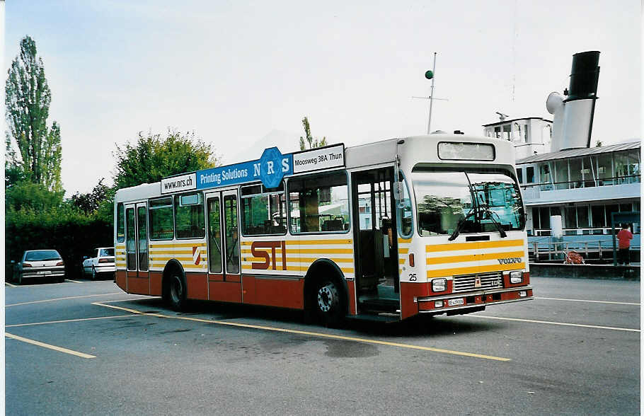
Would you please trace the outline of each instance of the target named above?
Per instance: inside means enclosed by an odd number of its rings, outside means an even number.
[[[260,325],[274,326],[281,324],[304,326],[303,330],[320,332],[325,326],[311,322],[303,311],[269,306],[239,304],[220,304],[212,301],[190,301],[183,311],[176,312],[161,298],[137,299],[132,301],[142,313],[163,313],[175,316],[199,316],[217,320],[253,319],[263,320]],[[427,337],[445,336],[463,333],[480,333],[498,330],[504,323],[488,320],[463,320],[458,316],[415,316],[401,322],[382,323],[369,320],[350,319],[330,329],[350,330],[360,335],[387,337]]]

